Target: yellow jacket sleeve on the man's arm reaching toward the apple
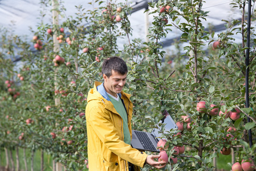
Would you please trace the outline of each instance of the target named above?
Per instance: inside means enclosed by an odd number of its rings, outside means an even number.
[[[90,105],[88,103],[88,105]],[[91,125],[101,142],[117,156],[143,168],[147,154],[132,148],[131,145],[124,143],[114,127],[107,109],[96,105],[86,106],[86,122]]]

